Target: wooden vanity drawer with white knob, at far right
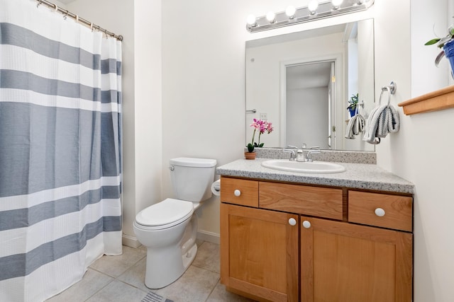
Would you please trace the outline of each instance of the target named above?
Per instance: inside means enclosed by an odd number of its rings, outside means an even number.
[[[350,222],[411,232],[413,229],[412,207],[413,199],[411,197],[348,192],[348,221]]]

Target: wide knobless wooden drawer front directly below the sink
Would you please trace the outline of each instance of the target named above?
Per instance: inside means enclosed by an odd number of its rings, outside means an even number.
[[[260,182],[259,207],[342,220],[342,189]]]

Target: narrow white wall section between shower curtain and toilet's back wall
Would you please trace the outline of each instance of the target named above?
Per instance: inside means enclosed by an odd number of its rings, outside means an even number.
[[[124,0],[123,0],[124,1]],[[135,211],[162,200],[162,19],[160,0],[134,1]],[[126,119],[126,117],[125,117]],[[127,228],[123,228],[126,233]]]

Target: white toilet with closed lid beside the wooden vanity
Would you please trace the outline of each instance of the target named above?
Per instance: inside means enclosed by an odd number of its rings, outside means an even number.
[[[194,211],[211,197],[215,159],[173,158],[170,175],[176,198],[143,209],[133,230],[147,248],[145,286],[160,289],[177,280],[196,257],[197,217]]]

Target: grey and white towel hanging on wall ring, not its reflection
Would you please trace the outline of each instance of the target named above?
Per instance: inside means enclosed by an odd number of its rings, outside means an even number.
[[[377,106],[370,112],[362,140],[369,144],[380,144],[380,138],[398,132],[399,127],[399,112],[392,105]]]

